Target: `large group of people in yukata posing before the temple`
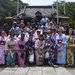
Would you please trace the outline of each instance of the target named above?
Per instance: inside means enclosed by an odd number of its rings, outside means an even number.
[[[68,25],[62,26],[44,16],[40,22],[13,21],[12,27],[8,27],[7,23],[0,27],[1,65],[74,64],[74,52],[67,48],[74,39],[74,30]]]

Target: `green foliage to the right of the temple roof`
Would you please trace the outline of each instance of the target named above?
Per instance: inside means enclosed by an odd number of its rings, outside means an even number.
[[[74,27],[75,25],[75,2],[67,2],[65,3],[65,11],[66,14],[64,14],[64,2],[59,2],[59,14],[68,16],[70,18],[69,24],[71,27]],[[54,4],[56,6],[56,2]]]

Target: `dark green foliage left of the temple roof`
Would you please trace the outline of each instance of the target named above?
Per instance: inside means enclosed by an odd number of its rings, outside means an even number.
[[[27,5],[20,0],[20,5]],[[0,0],[0,19],[3,19],[11,13],[11,16],[16,15],[17,0]]]

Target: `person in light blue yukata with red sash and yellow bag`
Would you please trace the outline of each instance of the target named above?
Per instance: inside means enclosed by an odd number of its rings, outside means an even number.
[[[57,64],[65,65],[67,39],[66,36],[62,33],[61,28],[58,29],[58,35],[56,36],[56,45],[57,45]]]

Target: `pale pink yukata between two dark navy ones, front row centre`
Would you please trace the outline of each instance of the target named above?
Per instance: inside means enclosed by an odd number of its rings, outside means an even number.
[[[40,41],[39,39],[35,41],[35,54],[37,65],[43,65],[44,45],[45,45],[44,41]]]

